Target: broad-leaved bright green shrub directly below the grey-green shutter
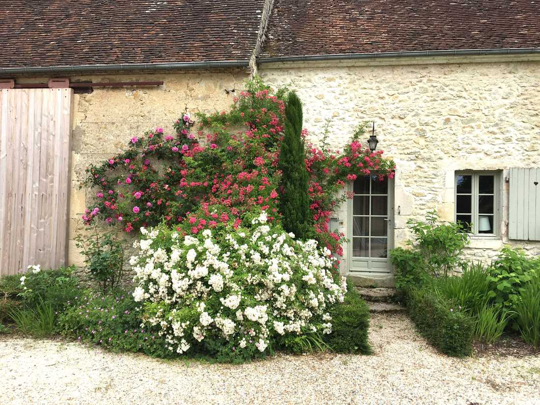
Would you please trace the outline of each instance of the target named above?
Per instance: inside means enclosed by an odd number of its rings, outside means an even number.
[[[488,297],[497,306],[512,310],[535,274],[540,275],[540,259],[530,259],[521,249],[505,246],[491,264]]]

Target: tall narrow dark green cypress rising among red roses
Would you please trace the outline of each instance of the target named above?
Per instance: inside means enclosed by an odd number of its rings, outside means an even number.
[[[291,92],[285,107],[285,131],[279,154],[279,168],[283,173],[280,208],[284,229],[298,239],[308,239],[313,234],[305,158],[302,103],[296,93]]]

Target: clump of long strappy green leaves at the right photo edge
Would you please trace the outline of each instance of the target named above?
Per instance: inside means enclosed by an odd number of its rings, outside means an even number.
[[[536,274],[521,291],[514,305],[516,323],[525,342],[540,346],[540,275]]]

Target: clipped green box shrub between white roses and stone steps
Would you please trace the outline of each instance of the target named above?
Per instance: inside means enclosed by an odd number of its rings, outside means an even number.
[[[372,353],[368,342],[369,308],[351,283],[345,300],[330,315],[332,333],[325,335],[330,349],[337,353]]]

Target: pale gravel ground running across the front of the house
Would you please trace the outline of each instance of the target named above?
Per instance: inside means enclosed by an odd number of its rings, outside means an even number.
[[[373,356],[278,355],[242,366],[160,361],[2,338],[2,404],[540,404],[540,356],[450,359],[405,315],[375,314]]]

